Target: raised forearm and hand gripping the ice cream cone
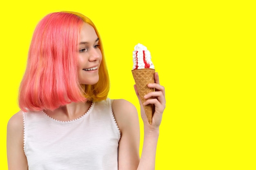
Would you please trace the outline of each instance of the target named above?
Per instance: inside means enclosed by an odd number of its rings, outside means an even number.
[[[154,99],[148,99],[145,103],[141,103],[139,94],[135,85],[135,92],[139,99],[141,108],[141,118],[144,122],[144,144],[141,153],[141,159],[137,170],[155,170],[155,155],[157,148],[157,141],[159,136],[159,126],[162,121],[162,114],[165,109],[165,90],[164,87],[159,84],[158,73],[155,73],[155,83],[148,84],[149,88],[155,88],[154,92],[150,92],[144,96],[145,99],[154,97]],[[152,124],[148,123],[148,119],[144,112],[143,105],[154,104],[155,113],[152,118]]]

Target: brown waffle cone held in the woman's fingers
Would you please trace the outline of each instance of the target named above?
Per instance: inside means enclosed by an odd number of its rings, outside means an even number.
[[[144,95],[154,91],[154,88],[148,88],[147,86],[149,83],[155,83],[154,73],[155,73],[155,69],[151,69],[151,68],[132,70],[132,75],[135,80],[135,84],[136,84],[139,97],[142,103],[146,102],[146,99],[144,99]],[[150,97],[149,99],[152,99],[152,98],[153,97]],[[143,107],[144,107],[146,116],[148,118],[148,122],[152,124],[152,116],[153,116],[153,113],[155,112],[154,105],[148,104]]]

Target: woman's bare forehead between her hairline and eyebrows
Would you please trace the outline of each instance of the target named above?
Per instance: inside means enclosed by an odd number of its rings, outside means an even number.
[[[94,28],[88,24],[88,23],[83,23],[83,26],[80,31],[80,42],[90,42],[98,38]]]

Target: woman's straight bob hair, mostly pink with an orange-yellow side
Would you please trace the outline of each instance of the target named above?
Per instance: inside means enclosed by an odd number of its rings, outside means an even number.
[[[94,90],[94,85],[90,85],[91,94],[86,93],[89,85],[82,89],[78,81],[78,44],[83,22],[77,15],[58,12],[46,15],[38,23],[29,48],[27,69],[20,84],[19,106],[23,111],[54,110],[70,102],[106,99],[109,78],[105,68],[100,66],[99,74],[100,77],[106,75],[107,80],[99,80],[95,85],[105,84],[104,87]],[[102,61],[105,66],[105,59]]]

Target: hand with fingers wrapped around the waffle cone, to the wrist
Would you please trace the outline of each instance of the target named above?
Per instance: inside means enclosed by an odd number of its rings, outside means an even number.
[[[140,108],[141,108],[141,118],[144,122],[144,125],[149,126],[150,124],[148,123],[148,119],[146,117],[146,113],[144,111],[143,105],[154,104],[155,105],[155,113],[153,114],[151,126],[158,128],[162,121],[162,115],[163,115],[163,112],[164,112],[164,109],[166,106],[166,100],[165,100],[164,86],[161,86],[159,83],[158,73],[155,73],[154,76],[155,76],[155,83],[148,84],[148,87],[155,88],[155,91],[150,92],[144,96],[144,98],[147,99],[146,102],[141,103],[136,85],[134,85],[134,89],[135,89],[136,95],[139,99],[139,104],[140,104]],[[149,99],[150,97],[153,97],[153,99]]]

